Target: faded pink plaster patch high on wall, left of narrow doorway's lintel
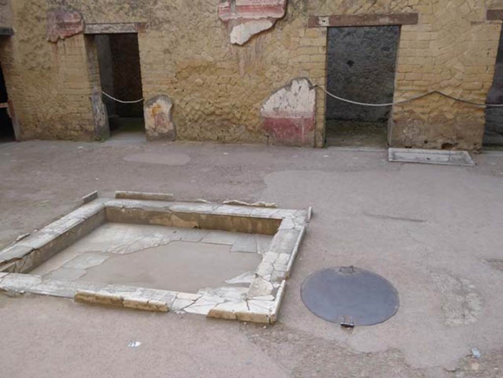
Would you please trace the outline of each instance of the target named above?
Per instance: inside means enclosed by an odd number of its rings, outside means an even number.
[[[51,9],[47,12],[47,39],[57,42],[83,32],[84,19],[75,11],[64,8]]]

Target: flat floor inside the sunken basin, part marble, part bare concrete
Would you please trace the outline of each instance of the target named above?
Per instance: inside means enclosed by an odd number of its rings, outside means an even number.
[[[197,293],[203,288],[229,286],[226,280],[255,272],[262,261],[256,246],[253,252],[242,251],[237,246],[234,249],[233,243],[249,238],[255,242],[256,237],[267,244],[273,238],[107,222],[30,274]]]

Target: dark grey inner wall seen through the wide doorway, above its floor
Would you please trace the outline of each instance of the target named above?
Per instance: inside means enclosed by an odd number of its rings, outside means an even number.
[[[327,89],[350,100],[393,101],[398,26],[330,28]],[[326,119],[384,122],[391,107],[365,107],[328,97]]]

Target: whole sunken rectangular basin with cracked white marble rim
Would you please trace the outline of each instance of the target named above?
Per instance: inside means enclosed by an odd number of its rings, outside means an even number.
[[[100,198],[0,251],[0,289],[274,323],[309,217],[241,203]]]

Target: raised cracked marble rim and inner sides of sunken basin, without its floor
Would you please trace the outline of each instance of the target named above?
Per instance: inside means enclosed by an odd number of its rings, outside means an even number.
[[[74,298],[82,303],[147,311],[196,313],[211,318],[272,324],[306,232],[311,210],[245,204],[169,200],[97,199],[0,251],[0,290]],[[134,198],[149,198],[148,195]],[[271,235],[262,261],[247,287],[219,287],[197,293],[85,280],[59,280],[30,274],[105,222]]]

